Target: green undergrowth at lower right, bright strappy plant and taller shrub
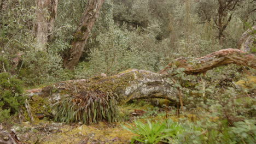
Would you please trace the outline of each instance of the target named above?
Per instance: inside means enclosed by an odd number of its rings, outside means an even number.
[[[137,134],[131,143],[255,143],[255,98],[241,94],[228,89],[194,109],[149,110],[124,128]]]

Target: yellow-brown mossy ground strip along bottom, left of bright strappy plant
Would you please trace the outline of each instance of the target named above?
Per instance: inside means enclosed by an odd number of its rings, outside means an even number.
[[[16,134],[25,143],[130,143],[134,135],[124,130],[120,123],[68,125],[40,121],[15,128],[19,129]]]

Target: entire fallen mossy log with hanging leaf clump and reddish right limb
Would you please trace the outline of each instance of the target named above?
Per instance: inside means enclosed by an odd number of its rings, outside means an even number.
[[[58,122],[114,122],[119,118],[117,105],[129,100],[164,98],[176,103],[179,92],[174,81],[169,79],[174,75],[173,69],[184,68],[184,73],[196,75],[231,63],[256,68],[255,55],[237,49],[225,49],[201,58],[175,59],[159,73],[129,69],[113,76],[63,81],[28,92],[35,92],[37,96],[48,100],[50,107],[54,105],[56,109],[53,115]]]

